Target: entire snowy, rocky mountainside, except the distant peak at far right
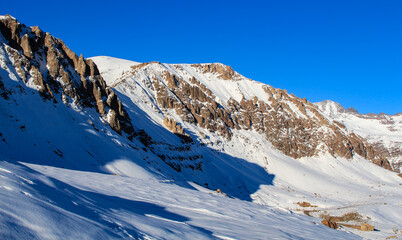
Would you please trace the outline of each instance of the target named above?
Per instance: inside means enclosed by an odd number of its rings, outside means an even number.
[[[401,178],[307,100],[223,64],[84,59],[10,16],[0,31],[1,239],[401,236]]]

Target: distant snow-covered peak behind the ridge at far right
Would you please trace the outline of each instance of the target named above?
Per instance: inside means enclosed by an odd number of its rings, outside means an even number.
[[[348,130],[367,139],[389,160],[395,171],[401,172],[402,113],[361,114],[329,100],[315,104],[328,118],[344,124]]]

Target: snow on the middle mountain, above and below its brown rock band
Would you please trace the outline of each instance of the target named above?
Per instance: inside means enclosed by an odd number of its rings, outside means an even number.
[[[94,59],[94,61],[97,60]],[[109,65],[112,64],[115,63],[111,62]],[[184,73],[177,71],[180,67]],[[258,88],[262,86],[261,83],[251,80],[227,81],[210,74],[197,73],[191,65],[182,64],[180,67],[169,64],[152,65],[155,74],[168,70],[180,74],[179,76],[183,78],[195,75],[197,80],[210,87],[216,100],[220,102],[229,99],[232,93],[232,96],[236,96],[236,93],[249,97],[258,95],[263,99],[266,94],[258,91]],[[199,151],[203,156],[204,168],[202,173],[186,172],[182,169],[181,174],[185,179],[200,184],[208,182],[211,189],[220,188],[229,195],[252,200],[265,206],[300,212],[313,210],[310,215],[317,217],[324,213],[340,216],[358,212],[363,216],[364,221],[373,224],[380,231],[370,233],[350,229],[347,231],[353,231],[370,239],[388,237],[394,233],[395,229],[402,228],[400,224],[402,222],[400,217],[402,216],[400,204],[402,181],[395,173],[379,168],[360,157],[347,160],[323,155],[317,158],[295,160],[273,148],[263,135],[255,131],[234,130],[231,141],[226,141],[223,137],[205,131],[197,125],[183,122],[174,111],[159,109],[156,101],[157,93],[149,87],[149,79],[146,75],[133,76],[126,73],[114,76],[114,79],[120,79],[114,90],[126,108],[130,109],[130,114],[136,116],[135,125],[149,129],[148,133],[152,138],[158,141],[167,140],[167,138],[163,139],[164,135],[160,130],[151,126],[153,123],[163,126],[163,119],[169,116],[179,122],[186,132],[195,136],[204,146],[217,151],[218,154],[211,155],[201,147],[192,148],[192,151]],[[113,81],[113,78],[106,81]],[[152,119],[152,124],[146,119]],[[158,147],[155,146],[155,148],[155,151],[158,151]],[[214,160],[211,161],[211,159]],[[224,167],[220,166],[221,161],[225,164]],[[255,165],[250,168],[246,163]],[[228,167],[227,164],[232,167]],[[239,166],[243,166],[240,167],[241,170]],[[269,175],[261,174],[259,172],[261,169],[265,169]],[[258,176],[258,179],[255,179],[255,176]],[[221,179],[219,181],[225,179],[224,181],[231,182],[230,185],[236,187],[233,189],[211,179]],[[239,194],[236,188],[246,191],[251,198]],[[296,204],[301,201],[310,202],[317,207],[303,209]]]

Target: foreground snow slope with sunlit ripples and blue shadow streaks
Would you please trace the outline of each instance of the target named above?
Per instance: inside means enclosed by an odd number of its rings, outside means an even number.
[[[201,187],[2,160],[2,239],[359,239]]]

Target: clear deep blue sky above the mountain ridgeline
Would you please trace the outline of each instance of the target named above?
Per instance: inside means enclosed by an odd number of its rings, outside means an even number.
[[[402,1],[5,1],[84,57],[222,62],[309,101],[402,112]]]

